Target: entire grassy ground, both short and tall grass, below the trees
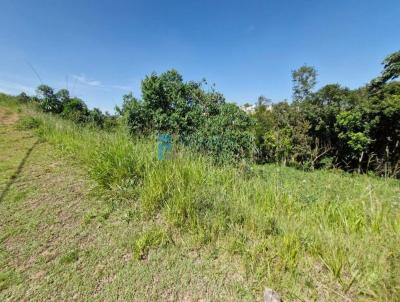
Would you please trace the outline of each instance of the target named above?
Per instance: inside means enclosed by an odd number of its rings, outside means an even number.
[[[400,182],[216,167],[0,99],[0,300],[400,301]]]

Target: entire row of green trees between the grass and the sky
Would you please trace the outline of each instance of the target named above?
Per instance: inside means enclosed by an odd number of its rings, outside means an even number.
[[[185,82],[176,70],[142,81],[142,99],[123,97],[117,115],[88,110],[65,89],[41,85],[34,100],[45,112],[77,123],[112,128],[117,122],[134,136],[172,134],[176,142],[210,155],[217,163],[283,163],[303,169],[341,168],[400,177],[400,51],[383,62],[381,75],[358,89],[339,84],[315,91],[317,71],[292,72],[292,102],[260,97],[247,114],[205,81]]]

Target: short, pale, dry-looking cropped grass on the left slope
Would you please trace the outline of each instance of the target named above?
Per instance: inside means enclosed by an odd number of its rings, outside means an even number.
[[[2,105],[2,113],[9,111]],[[0,127],[3,192],[37,138],[15,124]],[[0,301],[237,297],[236,267],[214,259],[211,250],[200,258],[182,242],[133,260],[137,238],[155,225],[113,210],[92,187],[72,160],[48,143],[35,145],[0,202]]]

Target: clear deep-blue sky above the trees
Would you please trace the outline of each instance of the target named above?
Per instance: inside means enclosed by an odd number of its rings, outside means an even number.
[[[0,91],[39,79],[112,111],[146,74],[206,78],[229,101],[290,99],[291,70],[354,88],[400,49],[399,0],[0,0]]]

